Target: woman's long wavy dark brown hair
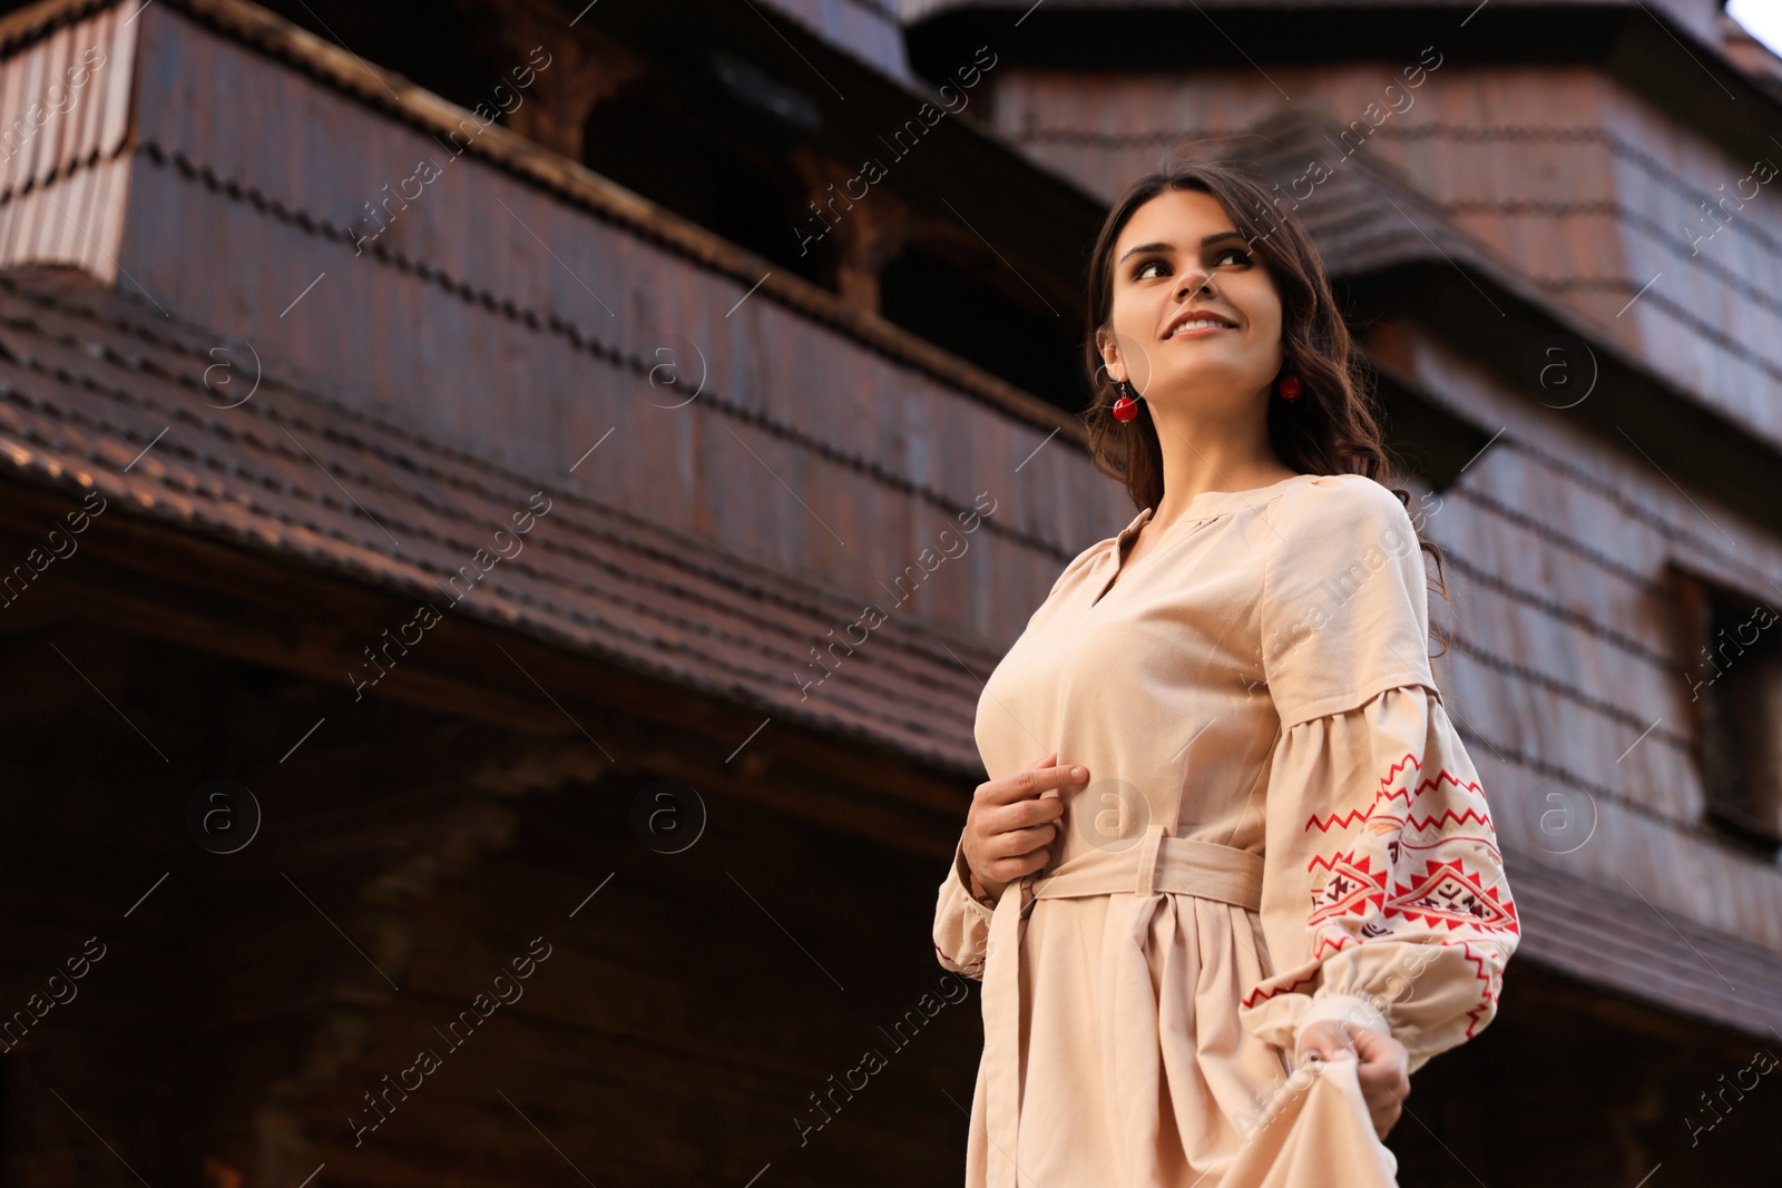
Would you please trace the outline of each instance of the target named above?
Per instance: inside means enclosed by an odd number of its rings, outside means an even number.
[[[1281,372],[1299,376],[1296,401],[1269,399],[1269,443],[1301,474],[1363,474],[1410,509],[1411,493],[1399,486],[1399,467],[1386,451],[1379,419],[1367,395],[1369,376],[1349,326],[1331,294],[1324,258],[1304,226],[1276,194],[1242,167],[1221,160],[1169,160],[1158,173],[1133,182],[1108,210],[1089,262],[1089,335],[1083,365],[1094,401],[1083,411],[1089,454],[1096,468],[1126,486],[1135,508],[1155,509],[1164,497],[1164,454],[1146,401],[1130,422],[1114,419],[1117,395],[1096,344],[1096,333],[1114,321],[1114,248],[1139,207],[1169,191],[1210,194],[1262,260],[1281,297]],[[1415,531],[1415,524],[1413,529]],[[1418,547],[1435,557],[1442,598],[1449,598],[1442,547]],[[1435,632],[1447,647],[1447,639]]]

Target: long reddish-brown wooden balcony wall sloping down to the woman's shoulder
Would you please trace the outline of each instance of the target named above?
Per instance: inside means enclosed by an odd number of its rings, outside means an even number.
[[[1012,641],[1001,607],[1130,518],[1080,451],[1048,445],[1067,419],[1010,417],[784,292],[748,296],[766,265],[723,274],[472,151],[447,164],[413,123],[176,11],[139,23],[119,264],[180,317],[519,472],[568,476],[563,481],[861,598],[989,492],[993,543],[920,611],[968,639]],[[355,256],[344,228],[422,157],[442,176]]]

